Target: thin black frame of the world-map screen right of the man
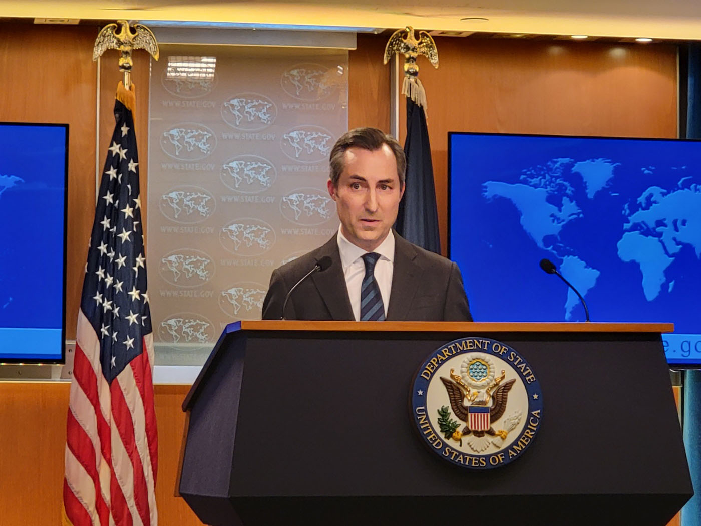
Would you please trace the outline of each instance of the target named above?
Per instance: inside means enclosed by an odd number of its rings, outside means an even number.
[[[475,131],[449,131],[448,132],[448,159],[447,159],[447,236],[446,236],[446,253],[447,257],[451,259],[451,205],[452,205],[452,182],[453,182],[453,142],[454,136],[465,136],[465,135],[479,135],[479,136],[495,136],[495,137],[543,137],[543,138],[554,138],[554,139],[592,139],[592,140],[620,140],[620,141],[644,141],[644,142],[697,142],[701,143],[701,139],[683,139],[679,137],[607,137],[604,135],[564,135],[564,134],[545,134],[545,133],[499,133],[499,132],[475,132]],[[585,322],[582,322],[585,323]],[[669,333],[669,335],[674,335],[677,338],[686,337],[686,335],[677,335],[676,333]],[[665,343],[665,350],[667,348],[667,339],[665,335],[662,335],[662,340]],[[665,353],[665,358],[670,358]],[[673,361],[668,363],[669,367],[672,369],[698,369],[701,367],[701,360],[685,360],[684,358],[674,358]]]

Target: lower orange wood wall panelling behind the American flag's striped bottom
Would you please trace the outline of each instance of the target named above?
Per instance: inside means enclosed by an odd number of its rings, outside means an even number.
[[[0,382],[0,524],[60,524],[63,456],[68,411],[67,382]],[[158,479],[161,525],[201,525],[175,480],[185,414],[186,385],[156,385]]]

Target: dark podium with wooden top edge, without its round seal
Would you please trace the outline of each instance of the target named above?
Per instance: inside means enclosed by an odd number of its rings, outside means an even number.
[[[691,497],[660,331],[671,324],[229,325],[183,408],[179,493],[208,525],[666,525]],[[442,461],[409,416],[428,354],[516,349],[538,436],[489,471]]]

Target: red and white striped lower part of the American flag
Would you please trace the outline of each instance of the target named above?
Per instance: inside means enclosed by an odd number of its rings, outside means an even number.
[[[111,386],[100,340],[79,312],[66,433],[65,519],[72,526],[156,526],[158,438],[153,335]]]

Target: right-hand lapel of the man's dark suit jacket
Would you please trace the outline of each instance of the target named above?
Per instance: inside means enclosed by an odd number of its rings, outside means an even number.
[[[386,319],[403,321],[406,319],[407,311],[409,311],[409,306],[411,306],[416,294],[423,268],[414,262],[416,258],[414,246],[394,231],[393,234],[395,236],[395,258],[390,305],[387,309]]]

